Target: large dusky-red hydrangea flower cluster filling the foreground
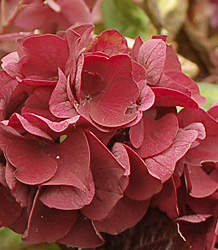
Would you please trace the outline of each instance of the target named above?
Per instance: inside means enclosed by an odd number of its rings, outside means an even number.
[[[199,108],[165,36],[129,49],[83,24],[19,39],[2,68],[0,226],[30,243],[96,247],[152,206],[193,249],[212,249],[218,105]]]

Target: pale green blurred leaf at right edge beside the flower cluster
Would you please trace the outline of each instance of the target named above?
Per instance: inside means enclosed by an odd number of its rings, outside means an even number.
[[[207,98],[207,102],[202,106],[203,109],[208,110],[211,104],[218,102],[218,86],[210,83],[199,82],[201,95]]]

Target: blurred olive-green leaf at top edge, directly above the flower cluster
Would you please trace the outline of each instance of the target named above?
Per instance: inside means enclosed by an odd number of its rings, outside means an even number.
[[[106,29],[116,29],[124,36],[148,39],[149,18],[141,7],[130,0],[104,0],[101,4]]]

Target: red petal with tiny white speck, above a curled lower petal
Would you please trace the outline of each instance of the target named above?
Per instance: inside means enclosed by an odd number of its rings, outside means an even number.
[[[44,183],[50,185],[74,186],[86,192],[90,187],[90,150],[82,130],[71,131],[66,139],[51,148],[52,157],[58,168],[55,176]]]

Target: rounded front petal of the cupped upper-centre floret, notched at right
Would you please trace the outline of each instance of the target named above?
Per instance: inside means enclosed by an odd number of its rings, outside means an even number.
[[[136,103],[139,90],[129,78],[116,78],[110,82],[104,93],[93,98],[90,103],[90,117],[101,126],[116,127],[125,125],[137,117],[131,110]]]

